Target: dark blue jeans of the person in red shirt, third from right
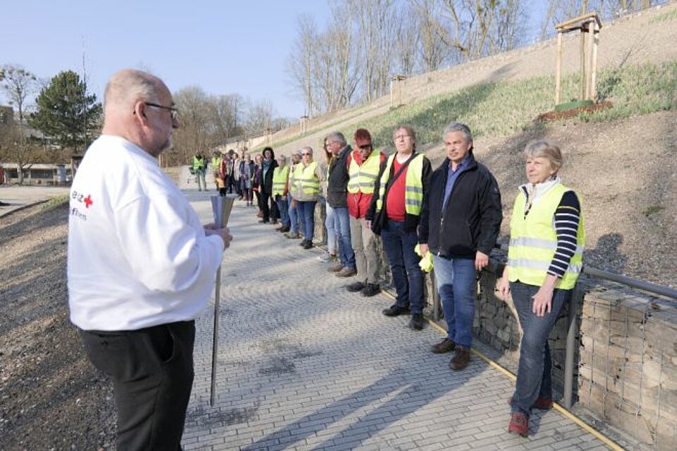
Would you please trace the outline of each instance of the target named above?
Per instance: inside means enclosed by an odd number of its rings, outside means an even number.
[[[425,305],[423,272],[418,266],[421,259],[414,252],[418,235],[416,232],[405,232],[404,223],[389,219],[381,230],[381,240],[397,292],[395,303],[400,307],[409,307],[411,313],[422,313]]]

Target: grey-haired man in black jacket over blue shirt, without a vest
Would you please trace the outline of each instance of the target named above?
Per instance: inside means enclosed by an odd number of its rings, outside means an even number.
[[[447,158],[432,174],[419,241],[422,255],[432,252],[447,324],[446,338],[432,352],[455,351],[449,366],[461,370],[470,362],[475,271],[489,264],[503,213],[494,175],[472,155],[468,125],[451,123],[442,137]]]

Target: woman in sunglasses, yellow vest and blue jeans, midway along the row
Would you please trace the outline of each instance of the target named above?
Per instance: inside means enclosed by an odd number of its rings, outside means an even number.
[[[303,147],[301,149],[301,162],[295,166],[290,182],[291,187],[293,187],[292,208],[297,209],[303,225],[303,241],[300,242],[303,249],[313,247],[315,204],[317,204],[319,186],[323,180],[324,171],[317,164],[317,161],[312,161],[312,148]]]

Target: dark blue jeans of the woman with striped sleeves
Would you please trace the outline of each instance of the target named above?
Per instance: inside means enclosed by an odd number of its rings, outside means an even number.
[[[520,343],[520,363],[511,405],[512,412],[529,414],[537,397],[552,399],[550,348],[548,336],[557,321],[562,306],[571,298],[572,290],[554,290],[552,309],[544,316],[531,311],[533,299],[540,287],[511,282],[510,292],[520,317],[523,336]]]

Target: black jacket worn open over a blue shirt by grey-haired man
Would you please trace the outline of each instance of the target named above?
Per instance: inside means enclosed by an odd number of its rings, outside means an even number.
[[[468,169],[458,175],[442,211],[449,163],[444,159],[432,173],[423,197],[419,241],[441,257],[475,259],[478,250],[489,255],[503,220],[499,185],[470,152]]]

